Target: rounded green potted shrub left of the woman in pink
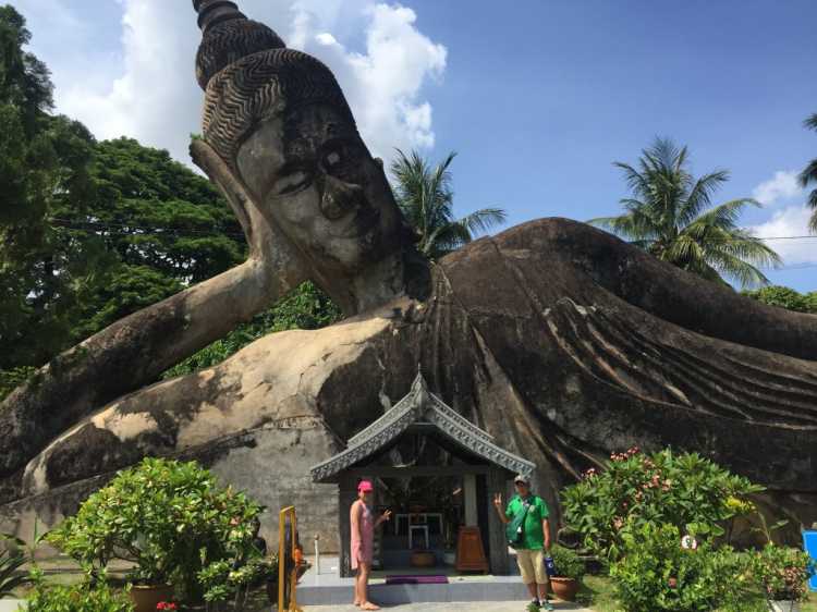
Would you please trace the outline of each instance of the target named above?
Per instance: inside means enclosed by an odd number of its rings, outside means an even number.
[[[253,517],[264,506],[195,462],[145,458],[117,476],[65,519],[48,541],[83,563],[134,562],[133,578],[161,585],[194,582],[209,563],[251,555]]]

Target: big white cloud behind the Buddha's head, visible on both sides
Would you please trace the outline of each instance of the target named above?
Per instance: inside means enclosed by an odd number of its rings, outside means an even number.
[[[42,0],[19,1],[25,13],[26,5],[33,11]],[[44,37],[29,23],[32,50],[53,73],[58,112],[78,119],[98,138],[125,135],[188,162],[188,134],[200,131],[204,96],[194,78],[200,32],[190,1],[118,0],[120,41],[105,32],[109,44],[101,49],[87,42],[97,27],[94,2],[47,1],[52,14],[73,24],[62,29],[51,24]],[[239,4],[336,73],[373,155],[388,159],[392,147],[434,144],[431,107],[422,90],[429,76],[443,73],[447,51],[414,27],[412,10],[366,0]],[[72,44],[78,32],[83,46]],[[363,50],[350,51],[339,41]]]

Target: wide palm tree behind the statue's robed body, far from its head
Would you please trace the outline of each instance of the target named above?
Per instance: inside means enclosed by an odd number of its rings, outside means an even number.
[[[642,156],[637,170],[614,162],[633,192],[633,198],[621,200],[627,212],[587,222],[709,281],[727,284],[722,278],[727,277],[742,287],[769,284],[755,266],[777,268],[780,257],[751,230],[735,227],[747,204],[761,204],[741,198],[709,208],[729,173],[715,170],[696,181],[686,147],[679,149],[670,138],[656,137]]]

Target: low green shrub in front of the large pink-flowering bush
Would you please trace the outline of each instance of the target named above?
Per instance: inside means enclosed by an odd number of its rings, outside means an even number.
[[[742,573],[731,547],[717,551],[708,542],[697,550],[681,547],[674,525],[627,526],[621,531],[621,559],[610,577],[627,612],[744,609],[737,576]]]

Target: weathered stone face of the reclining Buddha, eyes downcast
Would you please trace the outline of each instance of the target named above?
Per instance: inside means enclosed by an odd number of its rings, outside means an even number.
[[[241,146],[236,164],[265,211],[327,272],[354,273],[403,244],[382,164],[331,107],[309,105],[266,121]]]

